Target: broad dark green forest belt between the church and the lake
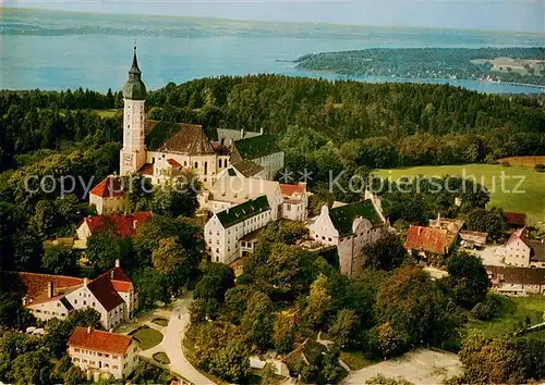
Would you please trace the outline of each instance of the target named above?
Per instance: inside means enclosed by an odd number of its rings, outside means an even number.
[[[38,149],[121,140],[121,94],[1,91],[1,165]],[[443,85],[364,84],[278,75],[203,78],[149,92],[148,119],[280,134],[287,152],[365,142],[395,157],[367,166],[483,162],[545,153],[545,109],[537,96],[483,95]],[[294,135],[294,133],[298,133]],[[293,141],[292,141],[293,139]],[[368,140],[376,142],[371,146]],[[324,159],[327,157],[323,157]],[[389,158],[388,158],[389,159]]]

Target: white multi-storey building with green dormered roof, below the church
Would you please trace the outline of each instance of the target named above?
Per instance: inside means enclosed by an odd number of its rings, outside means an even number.
[[[229,264],[245,254],[246,240],[241,239],[271,220],[265,195],[214,213],[205,225],[206,250],[211,261]]]

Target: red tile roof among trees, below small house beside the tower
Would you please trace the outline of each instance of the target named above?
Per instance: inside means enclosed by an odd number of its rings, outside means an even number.
[[[136,234],[136,228],[146,223],[152,215],[150,211],[122,215],[97,215],[87,216],[83,222],[87,224],[92,235],[112,228],[113,233],[120,237],[132,237]]]

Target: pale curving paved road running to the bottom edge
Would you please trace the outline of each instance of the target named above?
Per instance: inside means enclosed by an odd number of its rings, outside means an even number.
[[[210,380],[198,372],[185,358],[182,350],[182,339],[185,327],[190,324],[191,298],[178,299],[175,308],[170,315],[170,322],[165,330],[165,338],[161,346],[170,359],[169,369],[182,375],[185,380],[196,385],[214,384]]]

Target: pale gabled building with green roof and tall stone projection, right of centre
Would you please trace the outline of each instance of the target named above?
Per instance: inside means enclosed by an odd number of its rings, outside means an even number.
[[[389,223],[378,197],[366,192],[364,201],[338,206],[322,212],[308,225],[310,237],[323,245],[336,246],[340,271],[352,276],[363,270],[362,249],[388,233]]]

